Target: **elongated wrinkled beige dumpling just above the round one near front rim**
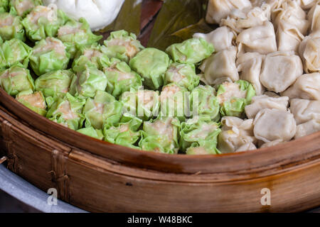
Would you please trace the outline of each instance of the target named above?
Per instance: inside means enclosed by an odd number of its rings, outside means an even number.
[[[245,106],[247,118],[255,118],[262,109],[278,109],[287,111],[289,98],[287,96],[270,97],[265,94],[252,97],[250,105]]]

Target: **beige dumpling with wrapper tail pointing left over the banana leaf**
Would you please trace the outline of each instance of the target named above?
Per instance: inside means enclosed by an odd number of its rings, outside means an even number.
[[[229,49],[233,46],[235,34],[226,26],[217,28],[208,34],[195,33],[193,38],[203,38],[211,43],[215,48],[215,52]]]

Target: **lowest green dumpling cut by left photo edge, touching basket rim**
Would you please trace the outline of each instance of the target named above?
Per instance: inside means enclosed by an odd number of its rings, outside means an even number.
[[[34,89],[33,79],[29,70],[15,65],[0,73],[0,84],[6,93],[14,96],[19,92]]]

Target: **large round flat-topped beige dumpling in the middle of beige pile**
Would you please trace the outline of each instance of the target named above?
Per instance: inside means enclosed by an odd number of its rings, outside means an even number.
[[[265,57],[260,82],[272,92],[284,92],[303,74],[302,61],[294,52],[272,52]]]

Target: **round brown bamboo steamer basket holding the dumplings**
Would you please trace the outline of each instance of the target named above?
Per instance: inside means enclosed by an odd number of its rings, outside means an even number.
[[[144,12],[156,13],[146,5],[151,10]],[[45,192],[57,189],[59,199],[81,209],[287,212],[320,206],[320,132],[241,153],[165,155],[87,137],[39,116],[3,89],[0,97],[0,155],[9,170]],[[270,189],[270,205],[262,205],[262,189]]]

